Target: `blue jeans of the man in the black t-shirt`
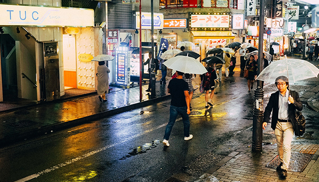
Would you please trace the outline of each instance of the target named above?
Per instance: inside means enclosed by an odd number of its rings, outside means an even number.
[[[165,135],[164,135],[165,140],[170,139],[171,131],[172,131],[173,125],[175,123],[175,120],[176,120],[178,114],[180,114],[183,118],[184,136],[186,136],[186,137],[189,136],[189,119],[188,119],[188,114],[187,114],[187,106],[185,106],[185,107],[171,106],[170,107],[170,120],[169,120],[169,122],[166,126],[166,129],[165,129]]]

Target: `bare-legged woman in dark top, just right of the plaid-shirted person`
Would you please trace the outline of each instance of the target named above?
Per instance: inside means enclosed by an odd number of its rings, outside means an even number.
[[[217,78],[216,71],[213,67],[215,67],[215,64],[208,65],[208,67],[206,67],[207,72],[201,75],[201,81],[203,81],[204,90],[206,92],[205,93],[205,108],[208,108],[209,107],[208,105],[213,106],[212,99],[215,93],[215,79]],[[209,90],[211,90],[211,96],[208,101]]]

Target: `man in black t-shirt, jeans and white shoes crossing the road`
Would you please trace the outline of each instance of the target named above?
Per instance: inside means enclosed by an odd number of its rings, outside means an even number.
[[[180,71],[176,71],[176,78],[173,78],[167,87],[168,93],[172,95],[171,107],[170,107],[170,120],[165,129],[165,135],[163,144],[167,147],[170,146],[168,140],[170,139],[171,131],[177,115],[180,114],[184,123],[184,140],[190,140],[193,138],[192,134],[189,134],[189,94],[188,84],[183,80],[183,74]]]

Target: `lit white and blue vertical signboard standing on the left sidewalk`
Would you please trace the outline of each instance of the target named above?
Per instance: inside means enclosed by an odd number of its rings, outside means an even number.
[[[128,51],[116,51],[115,53],[115,83],[121,85],[130,84],[130,62]]]

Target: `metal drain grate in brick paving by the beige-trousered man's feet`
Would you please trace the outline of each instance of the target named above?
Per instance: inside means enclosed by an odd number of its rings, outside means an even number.
[[[302,172],[308,165],[309,161],[311,160],[311,157],[311,154],[292,152],[288,170]],[[280,161],[277,155],[266,165],[266,167],[276,168],[279,164]]]

